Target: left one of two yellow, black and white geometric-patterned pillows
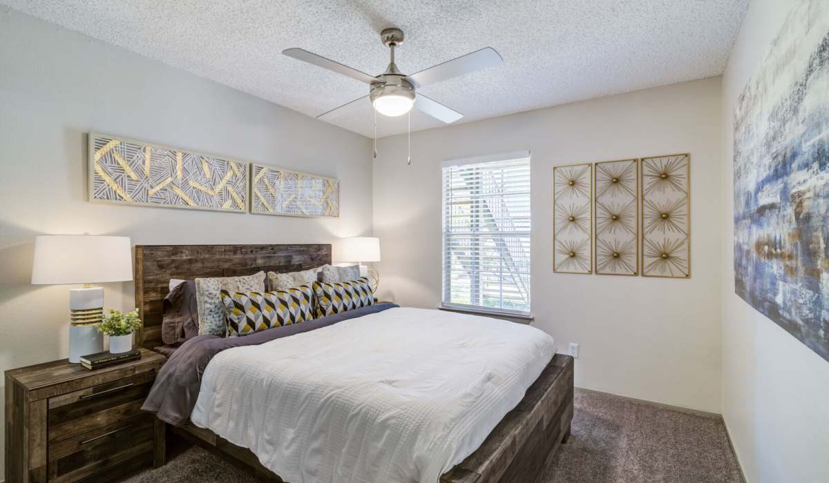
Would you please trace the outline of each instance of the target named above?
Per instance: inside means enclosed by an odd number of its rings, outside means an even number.
[[[274,292],[221,291],[227,312],[228,336],[247,336],[274,327],[313,319],[310,285]]]

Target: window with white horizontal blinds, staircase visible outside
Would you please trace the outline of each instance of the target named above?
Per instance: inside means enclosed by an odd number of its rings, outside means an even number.
[[[443,171],[444,307],[529,315],[529,152]]]

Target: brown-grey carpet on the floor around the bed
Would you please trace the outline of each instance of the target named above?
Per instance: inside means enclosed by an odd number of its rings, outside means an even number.
[[[128,483],[247,483],[252,476],[198,447]],[[720,418],[576,389],[573,435],[542,483],[740,483]]]

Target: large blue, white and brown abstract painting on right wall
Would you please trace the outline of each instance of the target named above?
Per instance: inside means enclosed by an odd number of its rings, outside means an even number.
[[[734,111],[734,291],[829,360],[829,2],[798,2]]]

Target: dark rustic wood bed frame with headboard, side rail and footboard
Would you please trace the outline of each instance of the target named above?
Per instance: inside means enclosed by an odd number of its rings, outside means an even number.
[[[331,263],[329,244],[137,245],[135,303],[143,320],[138,341],[150,350],[162,345],[162,300],[171,278],[294,272],[325,263]],[[478,450],[444,473],[440,483],[536,481],[560,443],[570,437],[573,389],[573,358],[557,354]],[[191,423],[169,428],[261,480],[283,481],[249,449],[214,432]]]

